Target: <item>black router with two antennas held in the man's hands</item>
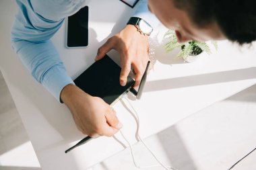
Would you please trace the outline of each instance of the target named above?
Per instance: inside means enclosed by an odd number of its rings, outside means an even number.
[[[133,89],[135,81],[130,76],[127,77],[125,86],[120,85],[119,77],[121,68],[107,55],[101,60],[94,62],[88,69],[86,69],[86,71],[84,71],[84,73],[74,80],[74,83],[86,93],[92,96],[101,97],[109,105],[115,103],[123,93],[127,93],[128,91],[131,91],[137,99],[140,99],[143,87],[146,83],[149,66],[150,61],[148,61],[146,71],[141,78],[138,91]],[[73,148],[76,148],[91,139],[92,137],[86,136],[86,138],[80,140],[75,146],[67,149],[65,153],[68,153]]]

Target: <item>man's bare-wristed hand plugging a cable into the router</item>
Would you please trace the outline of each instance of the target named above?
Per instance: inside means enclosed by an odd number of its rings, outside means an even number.
[[[61,100],[71,111],[77,128],[88,136],[113,136],[122,127],[110,105],[75,85],[63,88]]]

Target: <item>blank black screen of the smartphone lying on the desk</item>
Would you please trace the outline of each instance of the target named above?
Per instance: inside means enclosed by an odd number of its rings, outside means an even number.
[[[88,46],[88,6],[67,18],[67,47]]]

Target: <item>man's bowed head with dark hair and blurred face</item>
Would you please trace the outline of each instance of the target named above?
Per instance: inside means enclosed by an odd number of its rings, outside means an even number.
[[[222,40],[239,44],[256,40],[253,0],[149,0],[152,13],[176,31],[179,42]]]

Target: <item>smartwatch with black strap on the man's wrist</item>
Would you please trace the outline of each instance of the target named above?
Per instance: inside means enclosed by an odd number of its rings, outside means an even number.
[[[150,36],[150,34],[153,31],[152,26],[150,26],[150,24],[148,24],[148,22],[144,21],[140,17],[131,17],[129,19],[129,21],[127,22],[127,25],[128,24],[135,26],[137,28],[137,30],[143,35]]]

